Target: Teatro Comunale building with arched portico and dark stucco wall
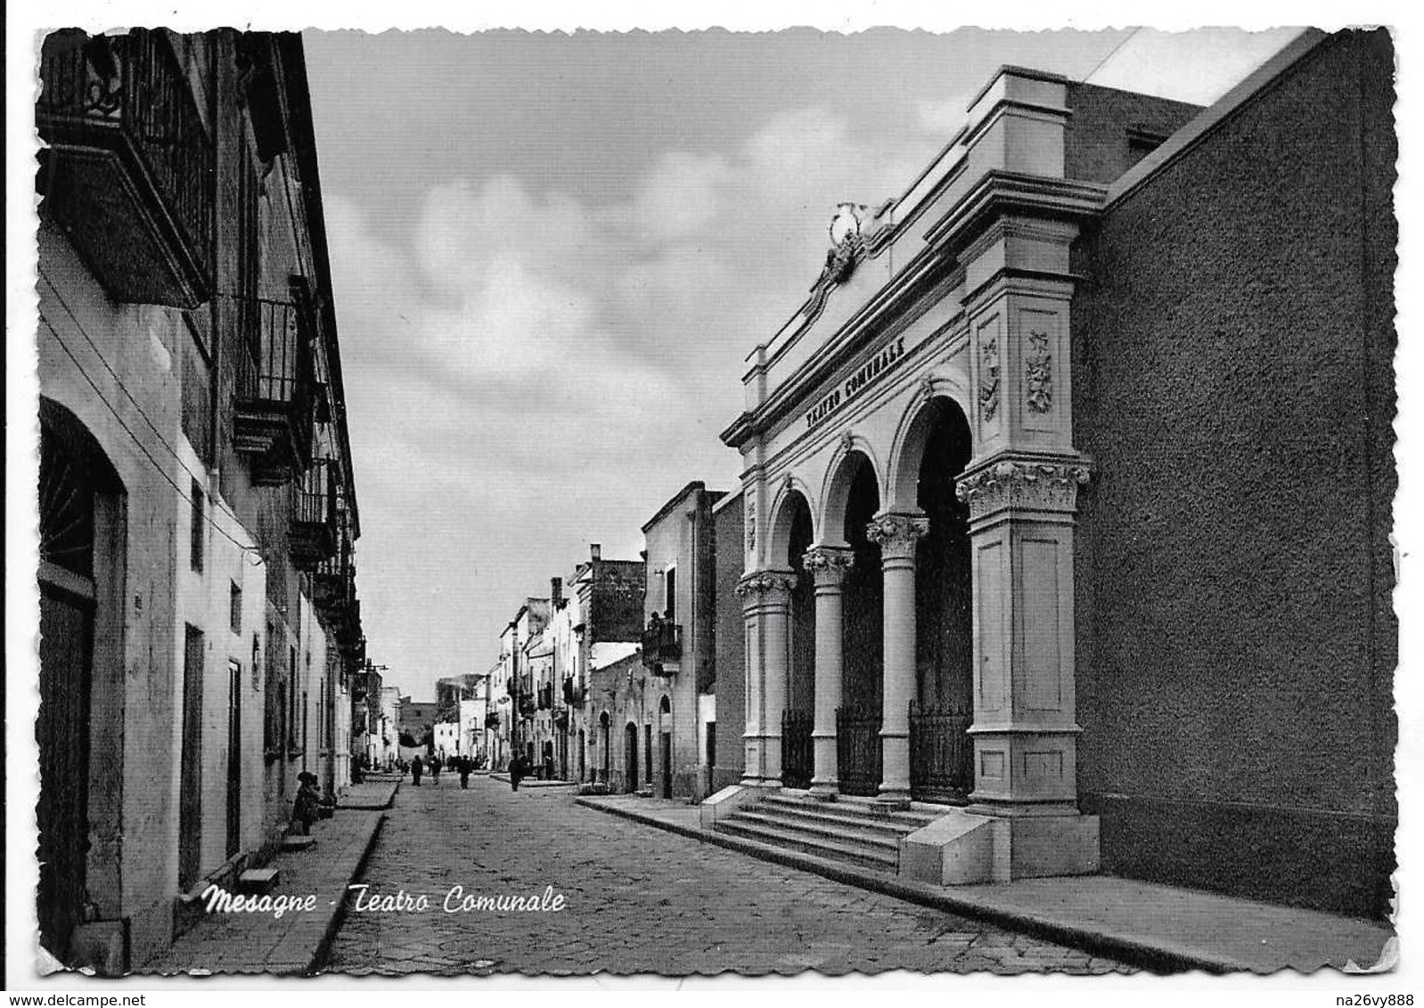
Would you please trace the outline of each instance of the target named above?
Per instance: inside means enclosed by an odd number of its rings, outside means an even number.
[[[1307,33],[1206,110],[1004,67],[903,196],[836,209],[722,434],[725,804],[943,809],[900,853],[941,883],[1384,911],[1390,67]]]

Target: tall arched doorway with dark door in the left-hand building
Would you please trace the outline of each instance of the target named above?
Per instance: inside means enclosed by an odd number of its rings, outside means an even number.
[[[40,943],[70,962],[88,910],[117,914],[118,864],[90,834],[122,800],[124,487],[80,420],[40,400]],[[93,760],[90,755],[100,753]]]

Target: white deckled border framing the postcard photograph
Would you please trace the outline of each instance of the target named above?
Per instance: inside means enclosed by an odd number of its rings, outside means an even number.
[[[34,864],[34,802],[38,793],[37,749],[34,743],[34,716],[38,703],[36,636],[38,626],[38,599],[34,587],[37,569],[36,550],[36,501],[37,477],[36,451],[38,444],[38,423],[34,411],[37,393],[34,379],[37,327],[34,279],[34,84],[33,65],[38,47],[40,31],[60,24],[83,24],[85,27],[124,27],[132,24],[165,24],[177,30],[201,30],[218,23],[238,27],[286,28],[306,27],[350,27],[372,31],[387,28],[419,28],[446,26],[454,30],[473,31],[487,27],[524,27],[535,30],[568,30],[575,27],[598,30],[628,28],[684,28],[726,27],[731,30],[776,30],[790,26],[810,26],[833,31],[856,31],[883,24],[921,27],[947,31],[961,24],[1004,28],[1102,28],[1148,23],[1158,28],[1189,28],[1200,26],[1232,24],[1247,28],[1267,28],[1277,24],[1312,24],[1321,28],[1340,28],[1350,24],[1391,24],[1396,27],[1400,78],[1396,121],[1400,132],[1400,184],[1396,189],[1397,214],[1400,218],[1400,272],[1398,272],[1398,319],[1400,352],[1397,356],[1398,420],[1396,430],[1398,444],[1400,491],[1396,500],[1396,535],[1400,555],[1400,587],[1396,592],[1396,609],[1400,614],[1401,665],[1396,673],[1396,698],[1400,716],[1400,750],[1397,777],[1400,783],[1400,861],[1405,866],[1398,874],[1404,891],[1404,905],[1398,928],[1401,935],[1401,962],[1396,972],[1384,978],[1361,978],[1351,981],[1339,974],[1317,974],[1312,978],[1297,975],[1276,975],[1269,978],[1232,977],[1209,980],[1200,975],[1176,978],[1111,977],[1101,981],[1084,978],[1020,977],[1011,981],[1002,978],[977,977],[921,977],[917,974],[884,974],[874,980],[842,978],[830,980],[817,974],[797,978],[797,988],[846,989],[850,985],[871,985],[876,989],[907,989],[931,987],[940,997],[948,992],[967,995],[973,991],[991,992],[995,998],[1010,997],[1014,1001],[1042,998],[1059,999],[1064,995],[1095,999],[1112,994],[1142,995],[1153,999],[1176,999],[1192,997],[1190,991],[1212,991],[1209,997],[1229,992],[1232,999],[1253,1001],[1270,997],[1272,992],[1310,988],[1310,1004],[1333,1005],[1334,992],[1367,992],[1386,995],[1391,992],[1413,992],[1424,1005],[1424,928],[1418,920],[1424,917],[1424,896],[1420,888],[1411,891],[1408,867],[1415,851],[1424,850],[1421,837],[1420,773],[1424,770],[1424,719],[1421,719],[1421,698],[1424,678],[1420,656],[1424,655],[1424,595],[1418,589],[1420,562],[1415,555],[1424,548],[1424,535],[1417,530],[1424,523],[1424,490],[1420,480],[1418,433],[1420,416],[1424,414],[1421,399],[1413,377],[1424,374],[1424,333],[1411,332],[1411,320],[1420,317],[1421,283],[1420,275],[1411,276],[1408,263],[1414,258],[1411,239],[1417,235],[1418,199],[1418,130],[1421,103],[1417,81],[1424,74],[1417,71],[1424,46],[1418,41],[1424,19],[1411,10],[1405,0],[1383,3],[1321,3],[1319,0],[1297,0],[1296,3],[1243,3],[1242,0],[1193,0],[1193,3],[1163,4],[1148,9],[1132,0],[1094,0],[1091,3],[1015,3],[998,0],[983,4],[937,4],[906,3],[903,0],[739,0],[736,3],[662,3],[635,4],[618,3],[544,3],[540,0],[494,0],[493,3],[431,3],[429,0],[402,0],[400,3],[362,4],[318,3],[315,0],[253,0],[245,4],[215,3],[158,3],[155,0],[80,0],[78,3],[26,3],[10,6],[6,24],[7,47],[7,221],[6,243],[6,766],[7,766],[7,826],[6,826],[6,988],[40,989],[46,992],[74,991],[70,982],[44,984],[31,970],[34,962],[34,901],[27,893],[34,891],[37,868]],[[1417,876],[1415,876],[1417,877]],[[1418,883],[1415,883],[1418,886]],[[1413,913],[1411,913],[1413,908]],[[118,984],[90,985],[85,992],[132,994],[155,991],[159,995],[202,994],[204,997],[226,999],[224,992],[251,988],[272,988],[285,997],[303,999],[316,998],[316,1004],[342,1004],[350,1001],[352,992],[387,991],[389,997],[413,997],[416,987],[436,987],[454,992],[457,981],[431,981],[413,978],[410,981],[380,981],[349,978],[323,978],[322,981],[278,982],[263,978],[209,978],[201,988],[198,981],[178,980],[155,984],[151,978],[130,980]],[[570,992],[587,988],[617,988],[622,998],[634,988],[652,988],[662,997],[674,987],[702,987],[713,984],[715,992],[725,997],[728,988],[750,985],[760,994],[779,994],[787,981],[749,980],[725,977],[718,981],[674,981],[656,980],[611,980],[605,977],[564,981],[535,981],[524,977],[501,977],[478,982],[478,992],[494,992],[506,987],[525,988],[528,985],[548,987],[560,984]],[[397,994],[396,988],[400,992]],[[530,991],[533,992],[533,991]],[[553,992],[553,991],[545,991]],[[468,997],[461,991],[456,997]],[[1330,997],[1327,997],[1330,995]],[[231,995],[228,995],[231,997]],[[429,995],[426,995],[429,997]],[[436,995],[439,997],[439,994]],[[517,997],[517,995],[515,995]],[[580,992],[575,997],[587,997]],[[1199,995],[1198,995],[1199,997]],[[161,1002],[161,998],[159,998]],[[1185,1001],[1183,1001],[1185,1002]],[[1085,1002],[1087,1004],[1087,1002]]]

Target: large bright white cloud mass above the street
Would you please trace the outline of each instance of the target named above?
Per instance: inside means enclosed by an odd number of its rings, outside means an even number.
[[[467,178],[377,233],[328,194],[377,661],[470,671],[590,541],[635,544],[688,480],[735,487],[743,357],[805,299],[834,205],[921,161],[802,108],[662,151],[607,205]]]

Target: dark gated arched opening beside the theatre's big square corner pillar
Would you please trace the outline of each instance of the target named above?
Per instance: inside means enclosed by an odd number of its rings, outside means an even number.
[[[910,790],[926,802],[967,802],[974,789],[973,599],[968,505],[954,483],[973,456],[968,420],[948,399],[916,417],[923,444],[903,466],[917,473],[916,504],[930,531],[916,552],[916,695],[910,708]]]

